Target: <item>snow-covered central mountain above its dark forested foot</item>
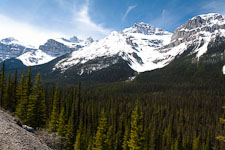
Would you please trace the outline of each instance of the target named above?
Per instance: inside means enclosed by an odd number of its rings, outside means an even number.
[[[164,66],[165,59],[157,49],[169,44],[171,36],[172,33],[146,23],[135,24],[121,32],[114,31],[104,39],[74,51],[68,58],[59,61],[54,69],[64,72],[77,64],[84,64],[99,57],[114,56],[122,57],[133,70],[138,72],[156,69]],[[103,63],[98,66],[88,70],[99,70],[108,64]],[[88,70],[81,70],[81,72]]]

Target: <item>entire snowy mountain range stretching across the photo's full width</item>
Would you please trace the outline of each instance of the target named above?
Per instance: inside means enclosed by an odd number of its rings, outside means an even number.
[[[183,57],[198,64],[207,55],[207,63],[222,62],[220,72],[225,74],[224,37],[225,17],[210,13],[191,18],[174,33],[139,23],[99,41],[50,39],[39,49],[7,38],[0,42],[0,60],[11,64],[11,58],[18,59],[49,80],[113,82],[133,79]]]

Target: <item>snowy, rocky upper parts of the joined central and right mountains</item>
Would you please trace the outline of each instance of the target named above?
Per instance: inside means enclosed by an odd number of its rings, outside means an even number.
[[[116,64],[118,59],[110,63],[89,63],[110,57],[121,57],[134,71],[150,71],[168,65],[190,47],[192,50],[189,55],[195,54],[198,61],[218,36],[225,36],[225,17],[216,13],[193,17],[173,34],[146,23],[134,24],[133,27],[121,32],[114,31],[104,39],[72,52],[60,60],[53,71],[61,70],[64,73],[84,64],[85,67],[80,67],[78,74],[90,73]],[[85,65],[87,63],[90,67]]]

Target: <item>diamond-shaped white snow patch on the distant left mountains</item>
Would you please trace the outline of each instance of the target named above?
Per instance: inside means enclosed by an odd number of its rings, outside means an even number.
[[[48,55],[40,49],[26,52],[23,55],[17,57],[17,59],[21,60],[26,66],[45,64],[55,58],[56,57]]]

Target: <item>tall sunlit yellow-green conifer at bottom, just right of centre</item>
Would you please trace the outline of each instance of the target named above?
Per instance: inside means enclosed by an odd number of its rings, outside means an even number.
[[[130,150],[142,150],[143,148],[143,117],[138,104],[131,115],[131,131],[128,147]]]

